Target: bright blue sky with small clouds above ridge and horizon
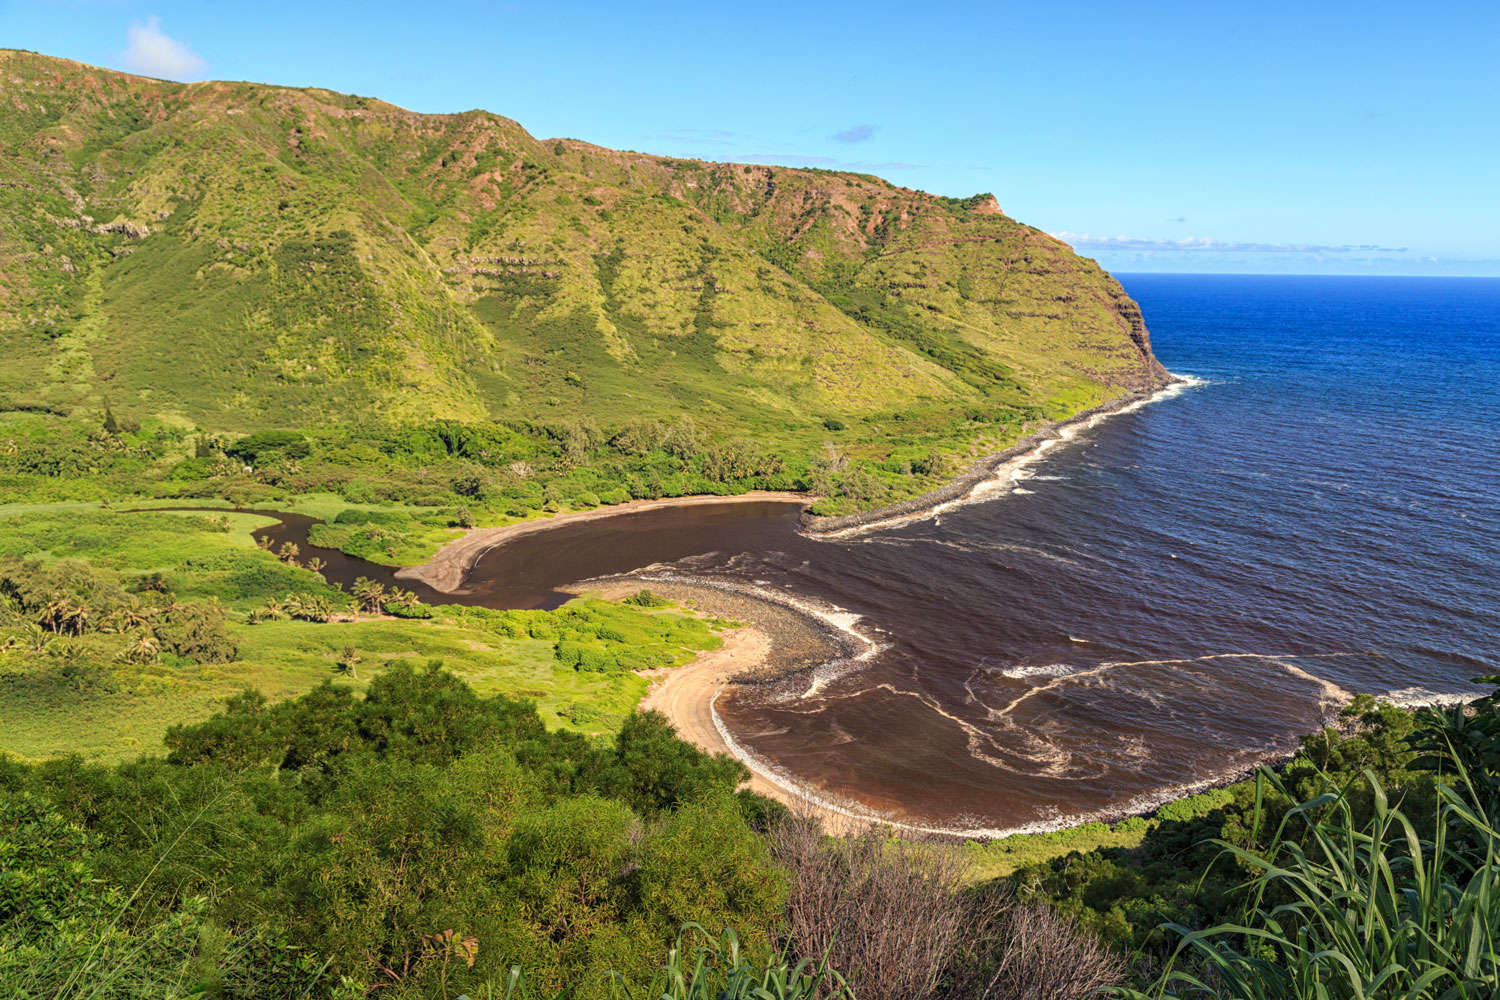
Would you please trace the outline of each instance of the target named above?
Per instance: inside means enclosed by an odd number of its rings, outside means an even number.
[[[1500,276],[1500,0],[0,0],[0,46],[993,192],[1116,271]]]

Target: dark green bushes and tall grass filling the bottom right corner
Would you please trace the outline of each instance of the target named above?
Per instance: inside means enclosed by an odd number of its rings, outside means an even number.
[[[1494,996],[1497,706],[1500,693],[1416,712],[1360,696],[1342,732],[1308,736],[1276,772],[1012,882],[1132,954],[1131,997]]]

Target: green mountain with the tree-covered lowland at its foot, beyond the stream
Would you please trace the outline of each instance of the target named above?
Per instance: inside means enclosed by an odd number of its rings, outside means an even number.
[[[326,490],[430,508],[364,546],[410,561],[630,496],[897,501],[1162,375],[1108,274],[982,196],[0,69],[0,499]]]

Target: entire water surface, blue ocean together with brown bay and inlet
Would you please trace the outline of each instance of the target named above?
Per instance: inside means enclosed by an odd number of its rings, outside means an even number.
[[[1500,282],[1125,285],[1194,384],[975,502],[838,538],[788,504],[580,522],[484,553],[459,600],[634,574],[792,601],[850,654],[728,690],[726,736],[801,790],[976,837],[1236,775],[1353,693],[1474,694],[1500,670]]]

